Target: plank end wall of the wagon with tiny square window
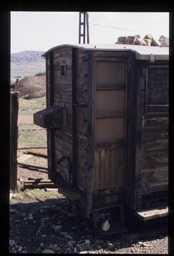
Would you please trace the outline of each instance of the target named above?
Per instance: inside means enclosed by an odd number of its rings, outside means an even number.
[[[66,76],[60,76],[61,65],[66,65]],[[49,68],[49,62],[47,62]],[[53,52],[53,104],[66,107],[67,125],[56,129],[53,135],[55,171],[72,184],[72,48],[60,48]],[[48,87],[50,76],[48,73]],[[86,53],[77,52],[77,186],[86,188],[86,133],[87,133],[87,74]],[[50,98],[49,90],[47,97]],[[48,143],[49,144],[49,143]],[[63,159],[62,156],[65,156]],[[63,159],[61,162],[59,160]]]

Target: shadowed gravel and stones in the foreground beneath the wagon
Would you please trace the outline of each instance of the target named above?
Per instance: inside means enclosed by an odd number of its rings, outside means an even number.
[[[59,193],[15,194],[10,211],[10,253],[168,254],[167,235],[143,240],[100,235],[92,220]]]

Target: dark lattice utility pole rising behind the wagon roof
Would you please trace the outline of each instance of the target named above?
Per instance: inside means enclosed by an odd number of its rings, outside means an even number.
[[[79,12],[79,43],[81,43],[81,37],[83,43],[85,43],[87,31],[87,43],[90,43],[88,12]]]

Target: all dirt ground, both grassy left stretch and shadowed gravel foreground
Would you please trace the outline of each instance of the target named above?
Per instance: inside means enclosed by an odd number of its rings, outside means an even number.
[[[33,114],[46,107],[45,98],[19,100],[17,157],[28,149],[46,149],[46,130],[33,123]],[[47,159],[32,156],[26,164],[47,167]],[[18,166],[17,178],[48,179],[45,170]],[[168,254],[168,235],[128,240],[121,235],[102,236],[79,208],[57,191],[11,191],[10,253],[112,253]]]

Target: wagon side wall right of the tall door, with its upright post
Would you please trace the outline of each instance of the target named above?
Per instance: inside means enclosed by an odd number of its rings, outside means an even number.
[[[168,112],[147,111],[149,64],[137,61],[134,209],[142,208],[142,195],[153,197],[153,193],[168,190]]]

